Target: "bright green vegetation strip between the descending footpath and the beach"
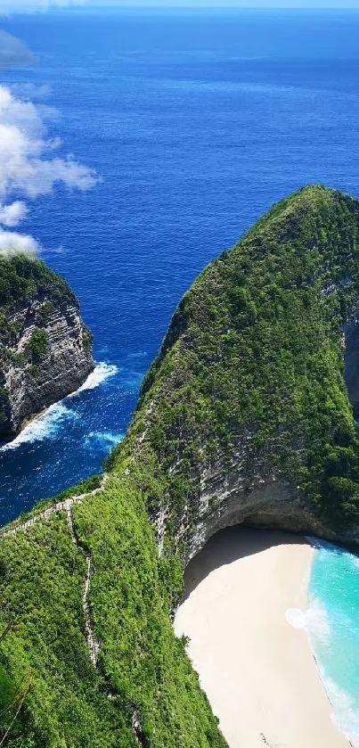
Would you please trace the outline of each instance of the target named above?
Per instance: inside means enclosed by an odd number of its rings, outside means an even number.
[[[94,629],[120,710],[127,719],[138,712],[144,745],[224,746],[169,621],[182,591],[181,565],[175,557],[158,559],[137,481],[112,478],[101,497],[74,508],[74,517],[94,558]]]

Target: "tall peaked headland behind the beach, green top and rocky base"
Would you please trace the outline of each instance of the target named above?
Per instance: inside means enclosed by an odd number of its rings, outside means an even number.
[[[358,309],[359,201],[320,186],[195,281],[117,450],[159,476],[160,554],[241,522],[359,545]]]

